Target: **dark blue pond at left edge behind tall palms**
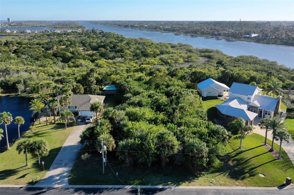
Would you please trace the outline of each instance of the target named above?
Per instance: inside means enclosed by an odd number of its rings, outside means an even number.
[[[24,118],[25,123],[19,128],[20,134],[28,130],[32,122],[33,112],[29,110],[30,98],[18,98],[18,97],[0,97],[0,112],[10,112],[13,119],[16,116],[21,116]],[[18,138],[17,124],[11,122],[7,125],[7,134],[9,143],[13,143]],[[6,146],[6,134],[4,124],[0,125],[0,128],[4,130],[4,137],[0,141],[1,151],[5,149]]]

